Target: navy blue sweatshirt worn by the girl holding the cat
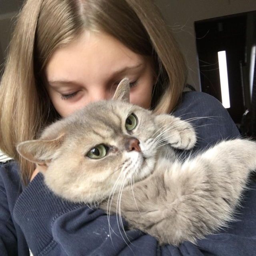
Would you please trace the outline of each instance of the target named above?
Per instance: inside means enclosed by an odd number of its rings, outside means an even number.
[[[239,136],[228,112],[215,98],[198,92],[183,95],[173,113],[191,120],[198,133],[196,150]],[[241,150],[243,150],[241,148]],[[38,174],[25,188],[15,162],[0,168],[0,256],[256,256],[256,182],[248,184],[237,209],[236,222],[228,228],[178,247],[159,246],[155,238],[139,230],[118,229],[116,216],[73,204],[55,196]],[[124,240],[122,237],[127,236]]]

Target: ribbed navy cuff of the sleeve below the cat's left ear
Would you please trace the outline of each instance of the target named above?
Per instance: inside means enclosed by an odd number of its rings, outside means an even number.
[[[41,173],[20,194],[14,206],[14,219],[20,225],[29,248],[38,254],[52,243],[54,220],[80,207],[55,196],[45,185]]]

